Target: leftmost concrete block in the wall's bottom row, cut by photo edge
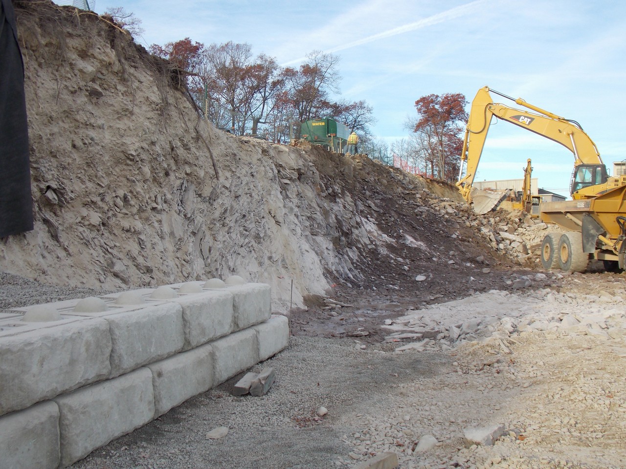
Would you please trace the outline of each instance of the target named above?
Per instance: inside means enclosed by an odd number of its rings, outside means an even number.
[[[46,401],[0,417],[0,466],[11,469],[56,469],[59,408]]]

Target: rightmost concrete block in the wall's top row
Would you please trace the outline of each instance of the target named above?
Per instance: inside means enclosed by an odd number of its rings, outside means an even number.
[[[235,331],[269,320],[272,315],[272,290],[265,283],[228,286],[234,296]]]

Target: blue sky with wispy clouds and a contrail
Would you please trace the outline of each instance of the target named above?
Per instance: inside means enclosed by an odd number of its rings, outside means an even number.
[[[421,96],[463,93],[471,102],[486,85],[578,121],[609,171],[626,158],[623,0],[98,0],[96,12],[117,6],[141,19],[136,41],[145,46],[249,43],[291,66],[314,49],[334,53],[341,97],[373,106],[374,134],[390,142],[406,138]],[[491,126],[476,180],[521,178],[527,158],[539,187],[568,195],[572,154],[502,121]]]

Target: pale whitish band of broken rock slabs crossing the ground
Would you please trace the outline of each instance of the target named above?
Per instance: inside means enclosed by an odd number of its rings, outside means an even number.
[[[537,273],[536,279],[546,275]],[[521,279],[528,280],[528,279]],[[530,283],[529,283],[530,285]],[[550,288],[515,295],[493,290],[463,300],[428,306],[419,311],[386,320],[381,326],[391,333],[387,341],[417,339],[400,346],[405,350],[450,350],[465,341],[497,338],[498,347],[524,331],[559,331],[622,339],[626,336],[626,310],[623,296],[558,293]]]

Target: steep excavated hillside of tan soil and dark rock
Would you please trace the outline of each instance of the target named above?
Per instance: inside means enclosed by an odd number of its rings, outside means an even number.
[[[16,13],[35,229],[1,241],[6,273],[105,290],[237,274],[283,311],[332,286],[429,301],[506,288],[493,274],[513,263],[453,186],[223,133],[110,21],[46,1]]]

